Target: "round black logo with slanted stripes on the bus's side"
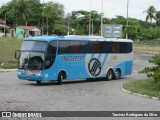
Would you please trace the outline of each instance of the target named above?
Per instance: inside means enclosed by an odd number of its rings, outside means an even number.
[[[88,70],[92,76],[98,76],[101,73],[101,62],[92,58],[88,63]]]

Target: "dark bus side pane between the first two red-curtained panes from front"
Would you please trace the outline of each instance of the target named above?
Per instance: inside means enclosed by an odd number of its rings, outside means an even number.
[[[90,52],[91,52],[90,42],[81,41],[80,53],[90,53]]]

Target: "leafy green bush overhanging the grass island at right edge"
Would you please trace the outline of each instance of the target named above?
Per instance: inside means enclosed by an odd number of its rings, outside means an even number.
[[[157,54],[149,60],[153,67],[145,67],[140,73],[146,73],[147,77],[153,77],[155,82],[160,82],[160,54]]]

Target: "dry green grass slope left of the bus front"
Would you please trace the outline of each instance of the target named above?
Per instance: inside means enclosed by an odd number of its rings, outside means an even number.
[[[0,68],[17,68],[15,51],[19,50],[22,40],[0,37]]]

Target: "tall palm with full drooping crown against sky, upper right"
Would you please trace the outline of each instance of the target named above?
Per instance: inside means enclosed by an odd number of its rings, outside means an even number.
[[[156,9],[154,6],[149,6],[149,8],[147,10],[144,11],[144,13],[147,13],[146,16],[146,21],[150,20],[150,23],[152,23],[152,19],[155,19],[155,13],[156,13]]]

